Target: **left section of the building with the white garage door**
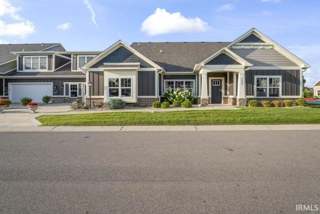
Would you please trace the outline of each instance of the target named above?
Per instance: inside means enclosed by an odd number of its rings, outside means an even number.
[[[58,43],[0,45],[0,97],[14,103],[22,97],[42,102],[45,95],[52,102],[81,99],[85,74],[71,70],[72,57]]]

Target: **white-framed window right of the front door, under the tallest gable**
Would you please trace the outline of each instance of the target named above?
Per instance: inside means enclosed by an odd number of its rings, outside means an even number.
[[[254,76],[255,97],[280,97],[281,76]]]

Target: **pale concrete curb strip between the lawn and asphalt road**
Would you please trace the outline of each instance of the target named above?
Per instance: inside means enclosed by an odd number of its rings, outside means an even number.
[[[212,126],[0,126],[0,132],[108,132],[108,131],[281,131],[320,130],[311,125],[212,125]]]

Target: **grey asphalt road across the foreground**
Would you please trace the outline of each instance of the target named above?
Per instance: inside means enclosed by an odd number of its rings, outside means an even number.
[[[320,209],[319,138],[318,130],[2,132],[0,213]]]

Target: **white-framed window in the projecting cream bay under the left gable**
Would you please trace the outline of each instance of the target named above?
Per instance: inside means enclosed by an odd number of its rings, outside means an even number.
[[[131,78],[109,78],[109,97],[131,97]],[[119,84],[120,83],[120,84]]]

